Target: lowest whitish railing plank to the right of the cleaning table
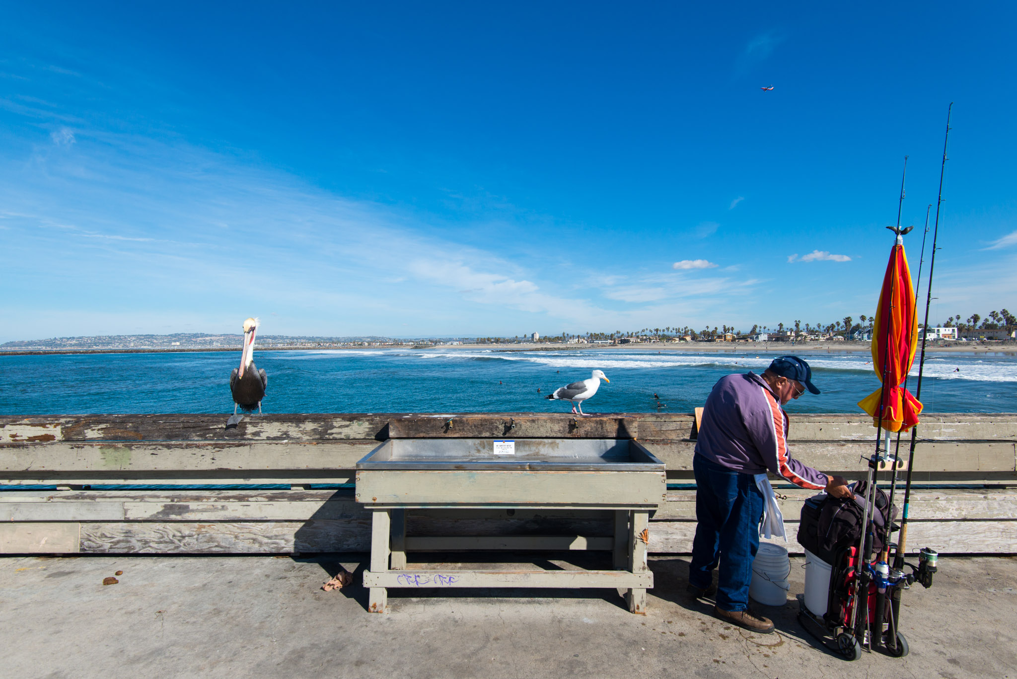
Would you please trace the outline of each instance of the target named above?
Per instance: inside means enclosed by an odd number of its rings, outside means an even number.
[[[796,521],[785,521],[788,542],[771,540],[790,554],[803,554],[795,540]],[[908,523],[907,544],[917,552],[929,547],[941,554],[1017,553],[1017,521],[913,521]],[[691,554],[695,521],[658,521],[650,531],[650,552]]]

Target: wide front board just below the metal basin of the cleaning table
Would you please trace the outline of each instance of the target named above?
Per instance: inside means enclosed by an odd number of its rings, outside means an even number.
[[[656,505],[666,498],[657,471],[357,471],[367,506],[434,504]]]

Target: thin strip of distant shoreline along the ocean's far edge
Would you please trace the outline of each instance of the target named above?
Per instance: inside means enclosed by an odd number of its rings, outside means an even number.
[[[869,353],[869,342],[805,342],[802,344],[791,344],[790,342],[681,342],[674,343],[652,343],[652,344],[438,344],[434,346],[342,346],[342,347],[308,347],[308,346],[273,346],[255,347],[256,351],[382,351],[391,349],[488,349],[493,352],[517,353],[527,351],[583,351],[590,349],[637,350],[647,352],[680,352],[680,353]],[[239,346],[235,347],[173,347],[173,348],[121,348],[121,349],[25,349],[0,351],[0,356],[45,356],[45,355],[75,355],[93,353],[204,353],[240,351]],[[1017,354],[1017,343],[1007,342],[999,345],[986,344],[983,342],[965,342],[954,345],[930,345],[925,347],[929,353],[1002,353]]]

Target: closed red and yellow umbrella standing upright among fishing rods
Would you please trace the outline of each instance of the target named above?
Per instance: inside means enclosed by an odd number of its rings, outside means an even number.
[[[873,416],[873,427],[881,426],[882,413],[882,427],[888,432],[908,431],[918,423],[921,412],[921,403],[901,387],[914,362],[918,344],[914,312],[911,272],[898,236],[890,250],[873,326],[873,369],[880,380],[886,381],[880,389],[858,401],[858,406]]]

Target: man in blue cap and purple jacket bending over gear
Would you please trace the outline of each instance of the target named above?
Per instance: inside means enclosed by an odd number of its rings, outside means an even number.
[[[759,550],[759,525],[766,499],[756,474],[772,471],[799,488],[849,497],[843,476],[805,466],[787,452],[787,413],[781,407],[820,390],[813,371],[797,356],[778,356],[763,375],[728,375],[706,400],[696,441],[696,539],[689,569],[689,592],[716,591],[714,614],[756,632],[773,622],[749,609],[749,583]],[[712,586],[719,565],[719,581]]]

